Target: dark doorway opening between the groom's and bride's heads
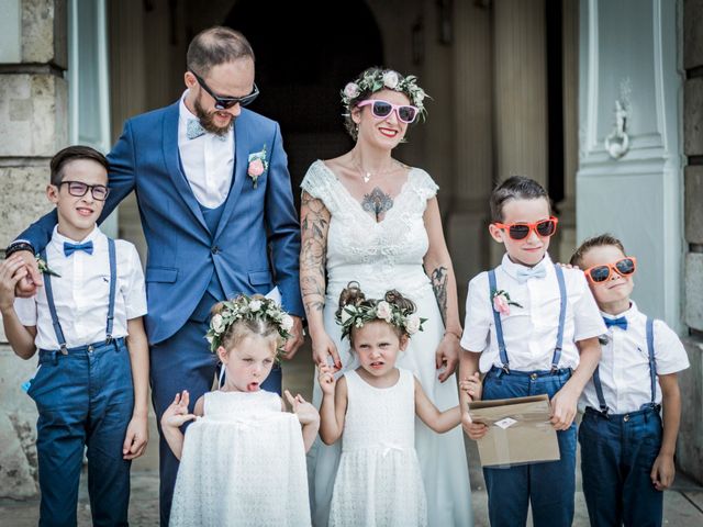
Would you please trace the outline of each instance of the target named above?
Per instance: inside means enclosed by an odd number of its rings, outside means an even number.
[[[344,15],[326,0],[241,0],[224,25],[244,33],[254,47],[261,94],[252,110],[281,124],[298,199],[312,161],[353,146],[339,91],[364,69],[383,64],[378,24],[361,0],[346,1]]]

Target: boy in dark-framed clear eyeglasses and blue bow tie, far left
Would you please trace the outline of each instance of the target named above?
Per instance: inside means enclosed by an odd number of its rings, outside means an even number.
[[[108,161],[85,146],[51,162],[48,200],[58,224],[40,255],[44,287],[30,299],[14,288],[20,255],[0,265],[0,312],[14,352],[38,367],[23,385],[38,410],[40,525],[76,525],[88,447],[94,525],[127,525],[131,460],[148,439],[148,346],[144,276],[135,247],[97,227],[108,197]]]

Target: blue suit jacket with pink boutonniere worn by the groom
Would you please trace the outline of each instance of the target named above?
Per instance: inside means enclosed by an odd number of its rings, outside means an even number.
[[[236,119],[233,184],[220,224],[211,233],[180,168],[178,117],[176,102],[130,119],[108,155],[111,190],[100,221],[136,192],[148,246],[149,341],[165,340],[182,327],[213,272],[228,298],[267,293],[277,284],[283,307],[302,316],[300,227],[278,123],[245,109]],[[247,176],[248,156],[265,146],[268,169],[255,189]],[[20,238],[38,251],[48,243],[56,221],[55,211],[46,214]]]

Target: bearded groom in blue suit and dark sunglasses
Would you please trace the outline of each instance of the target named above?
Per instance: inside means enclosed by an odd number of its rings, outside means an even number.
[[[148,246],[146,329],[157,418],[181,390],[192,404],[210,390],[215,357],[204,339],[210,309],[237,293],[278,287],[293,315],[287,357],[302,344],[298,259],[299,223],[278,124],[244,105],[258,94],[254,53],[226,27],[198,34],[188,48],[187,90],[174,104],[130,119],[109,154],[107,217],[134,191]],[[22,233],[8,253],[49,240],[56,213]],[[31,247],[30,247],[31,245]],[[269,253],[270,251],[270,253]],[[265,389],[280,393],[280,369]],[[178,460],[160,440],[160,517],[168,525]]]

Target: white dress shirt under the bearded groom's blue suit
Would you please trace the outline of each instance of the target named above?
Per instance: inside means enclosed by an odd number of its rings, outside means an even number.
[[[234,128],[224,136],[205,133],[188,138],[188,120],[198,117],[186,106],[186,96],[180,99],[178,117],[178,152],[186,179],[198,203],[216,209],[227,199],[234,171]],[[224,139],[224,141],[223,141]]]

